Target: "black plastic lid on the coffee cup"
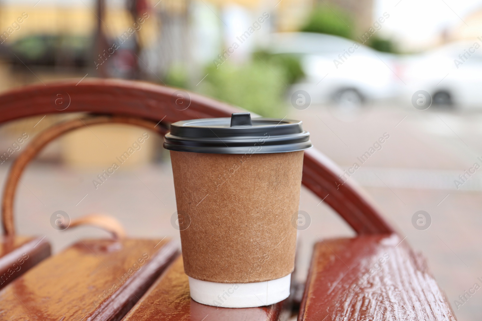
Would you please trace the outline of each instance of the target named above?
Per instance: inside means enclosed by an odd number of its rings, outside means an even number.
[[[171,124],[164,148],[193,153],[268,154],[313,147],[298,120],[254,118],[234,113],[231,118],[183,120]]]

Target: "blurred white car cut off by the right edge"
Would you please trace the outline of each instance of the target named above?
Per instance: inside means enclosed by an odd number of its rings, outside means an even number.
[[[402,79],[404,100],[427,91],[433,105],[482,107],[482,41],[454,42],[407,57]]]

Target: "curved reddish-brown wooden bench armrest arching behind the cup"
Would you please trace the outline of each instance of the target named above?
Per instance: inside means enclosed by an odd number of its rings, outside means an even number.
[[[47,85],[31,85],[0,95],[0,124],[27,116],[91,112],[132,116],[165,124],[179,120],[229,117],[239,109],[195,93],[188,93],[188,108],[176,105],[178,89],[139,81],[113,79],[67,80]],[[58,95],[61,96],[58,96]],[[59,111],[55,100],[63,97],[68,108]],[[181,108],[182,107],[182,108]],[[341,170],[315,149],[305,151],[303,184],[313,193],[326,197],[359,234],[391,233],[373,202],[353,183],[339,178]]]

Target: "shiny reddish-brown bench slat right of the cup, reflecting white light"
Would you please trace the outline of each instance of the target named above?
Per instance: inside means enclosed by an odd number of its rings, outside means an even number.
[[[317,243],[298,321],[454,321],[406,242],[392,234]]]

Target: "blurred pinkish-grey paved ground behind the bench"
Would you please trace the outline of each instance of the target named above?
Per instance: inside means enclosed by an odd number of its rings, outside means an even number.
[[[384,133],[389,134],[382,148],[349,179],[362,185],[402,236],[407,236],[403,242],[428,258],[458,320],[475,320],[482,308],[482,295],[473,295],[458,310],[453,303],[482,276],[481,253],[473,250],[482,242],[482,177],[477,172],[459,190],[454,180],[473,163],[480,163],[477,157],[482,156],[482,114],[387,106],[367,107],[357,116],[348,116],[325,106],[292,108],[287,115],[303,120],[315,148],[344,169],[355,162],[361,164],[357,157]],[[99,129],[92,127],[100,140],[107,140]],[[104,231],[89,227],[54,230],[51,215],[63,210],[70,218],[93,212],[112,214],[130,236],[168,235],[178,239],[179,232],[171,225],[176,206],[171,165],[166,156],[164,152],[161,163],[120,168],[97,190],[92,180],[101,169],[74,170],[48,162],[32,164],[22,178],[15,202],[20,234],[46,235],[55,252],[77,238],[107,236]],[[1,179],[6,175],[5,165],[8,163],[0,167]],[[296,278],[303,280],[314,242],[354,234],[306,189],[302,190],[300,210],[308,212],[311,218],[309,228],[299,232]],[[419,210],[431,217],[431,225],[423,231],[412,224],[412,216]]]

